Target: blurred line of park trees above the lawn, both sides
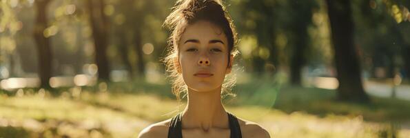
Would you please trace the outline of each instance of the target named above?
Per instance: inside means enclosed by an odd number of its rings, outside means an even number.
[[[137,79],[162,73],[169,30],[161,26],[174,3],[3,0],[0,77],[39,77],[41,87],[50,88],[54,76],[98,74],[110,81],[115,74]],[[301,85],[305,67],[334,67],[338,99],[365,102],[363,76],[410,76],[410,1],[224,3],[239,33],[240,63],[254,75],[284,71],[290,83]]]

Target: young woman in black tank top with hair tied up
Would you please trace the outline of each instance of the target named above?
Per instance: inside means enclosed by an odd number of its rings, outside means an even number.
[[[179,99],[187,92],[187,106],[172,119],[152,124],[145,137],[269,137],[267,130],[227,112],[221,103],[229,88],[236,32],[221,1],[178,0],[165,25],[172,30],[165,64]],[[224,83],[225,80],[225,83]],[[227,84],[228,83],[228,84]]]

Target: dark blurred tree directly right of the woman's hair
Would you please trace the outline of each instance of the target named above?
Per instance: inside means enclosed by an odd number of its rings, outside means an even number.
[[[238,27],[242,29],[242,34],[255,35],[259,45],[252,51],[254,72],[259,74],[263,72],[266,61],[278,66],[280,58],[275,41],[278,26],[276,14],[278,3],[272,0],[243,1],[239,6],[246,10],[240,10],[243,21],[238,24]]]

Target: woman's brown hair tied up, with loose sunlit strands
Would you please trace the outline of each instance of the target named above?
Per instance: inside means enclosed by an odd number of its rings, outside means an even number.
[[[223,30],[228,41],[228,67],[229,55],[236,55],[237,34],[235,26],[231,17],[225,10],[225,7],[218,0],[178,0],[176,5],[172,8],[172,12],[165,19],[164,26],[169,28],[172,32],[169,38],[169,46],[167,47],[167,55],[163,60],[169,77],[172,77],[172,93],[180,100],[181,92],[186,92],[187,86],[183,81],[183,77],[178,73],[178,43],[181,39],[185,28],[196,21],[209,21]],[[232,73],[231,73],[232,74]],[[234,77],[225,77],[222,85],[223,92],[232,94],[230,88],[234,86]]]

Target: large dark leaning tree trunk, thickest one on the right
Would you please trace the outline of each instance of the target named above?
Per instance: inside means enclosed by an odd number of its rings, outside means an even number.
[[[368,102],[362,86],[358,51],[353,43],[353,21],[350,0],[326,0],[331,39],[338,71],[338,99]]]

